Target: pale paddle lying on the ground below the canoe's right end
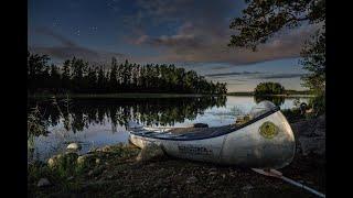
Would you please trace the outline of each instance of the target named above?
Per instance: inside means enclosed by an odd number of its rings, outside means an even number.
[[[280,179],[282,179],[282,180],[285,180],[285,182],[287,182],[287,183],[289,183],[289,184],[291,184],[291,185],[293,185],[293,186],[297,186],[297,187],[299,187],[299,188],[306,189],[306,190],[308,190],[308,191],[310,191],[310,193],[312,193],[312,194],[314,194],[314,195],[317,195],[317,196],[319,196],[319,197],[325,197],[324,194],[321,194],[321,193],[319,193],[319,191],[317,191],[317,190],[314,190],[314,189],[312,189],[312,188],[310,188],[310,187],[308,187],[308,186],[304,186],[304,185],[302,185],[302,184],[300,184],[300,183],[298,183],[298,182],[296,182],[296,180],[293,180],[293,179],[290,179],[290,178],[288,178],[288,177],[285,177],[285,176],[282,175],[282,173],[280,173],[280,172],[278,172],[278,170],[276,170],[276,169],[268,169],[268,170],[259,169],[259,168],[252,168],[252,169],[253,169],[254,172],[256,172],[256,173],[258,173],[258,174],[261,174],[261,175],[265,175],[265,176],[270,176],[270,177],[280,178]]]

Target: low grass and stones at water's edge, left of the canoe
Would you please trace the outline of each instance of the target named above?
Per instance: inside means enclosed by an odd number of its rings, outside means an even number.
[[[38,183],[41,178],[50,182],[45,188],[52,193],[77,193],[87,179],[94,179],[107,168],[127,163],[136,157],[139,150],[132,145],[114,145],[98,148],[78,156],[67,152],[51,157],[47,162],[33,161],[28,165],[29,195],[44,196],[43,187]]]

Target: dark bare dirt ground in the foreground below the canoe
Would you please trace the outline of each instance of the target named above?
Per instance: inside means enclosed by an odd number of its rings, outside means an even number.
[[[138,150],[132,146],[129,150]],[[136,152],[137,153],[137,152]],[[248,168],[169,156],[150,162],[105,156],[103,165],[74,178],[75,187],[29,189],[30,197],[315,197],[278,178]],[[299,156],[280,169],[285,176],[325,193],[323,156]]]

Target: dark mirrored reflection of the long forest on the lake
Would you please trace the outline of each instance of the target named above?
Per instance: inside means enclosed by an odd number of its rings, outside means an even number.
[[[185,119],[193,120],[211,107],[224,107],[226,97],[135,98],[135,99],[73,99],[30,100],[28,112],[38,107],[46,127],[63,123],[66,131],[84,131],[92,124],[104,124],[105,118],[117,125],[127,127],[130,120],[145,125],[174,125]],[[38,135],[38,134],[36,134]]]

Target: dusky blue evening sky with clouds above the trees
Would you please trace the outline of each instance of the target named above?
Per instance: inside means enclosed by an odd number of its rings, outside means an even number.
[[[278,81],[304,89],[300,50],[318,29],[303,24],[278,32],[257,52],[227,47],[233,18],[244,0],[29,0],[28,45],[56,64],[73,56],[93,64],[119,62],[174,64],[228,91],[250,91]]]

